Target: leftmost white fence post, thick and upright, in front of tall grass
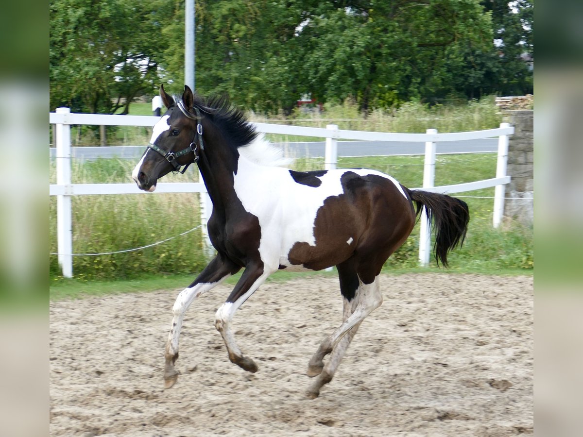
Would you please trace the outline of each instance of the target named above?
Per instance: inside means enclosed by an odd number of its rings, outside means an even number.
[[[57,108],[57,114],[70,114],[69,108]],[[71,125],[57,123],[55,126],[57,148],[57,185],[71,185]],[[65,193],[69,191],[65,189]],[[63,276],[73,277],[73,226],[71,195],[57,196],[57,252]]]

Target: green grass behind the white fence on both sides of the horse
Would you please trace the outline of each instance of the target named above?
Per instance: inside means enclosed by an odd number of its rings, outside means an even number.
[[[76,164],[76,183],[127,181],[133,162],[97,160]],[[296,170],[322,168],[323,159],[296,160]],[[423,157],[386,156],[340,158],[339,168],[374,168],[391,174],[403,185],[422,185]],[[491,177],[496,171],[495,154],[441,155],[437,157],[436,185],[470,182]],[[196,180],[195,171],[186,175]],[[189,175],[189,176],[187,176]],[[494,189],[456,195],[470,209],[468,236],[463,248],[451,253],[452,270],[497,272],[533,267],[532,227],[507,222],[500,229],[491,225]],[[465,197],[475,196],[475,197]],[[480,198],[484,197],[484,198]],[[140,194],[73,196],[73,249],[75,253],[101,253],[145,246],[173,237],[199,224],[199,197],[193,194]],[[50,252],[57,252],[56,207],[51,198]],[[386,268],[416,267],[419,227],[389,258]],[[60,275],[57,256],[50,255],[52,277]],[[141,251],[101,256],[75,256],[73,272],[83,279],[138,278],[145,274],[189,274],[206,265],[201,230]],[[435,265],[435,261],[431,261]]]

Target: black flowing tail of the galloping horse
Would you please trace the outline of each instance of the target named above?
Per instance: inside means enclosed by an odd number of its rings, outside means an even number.
[[[433,253],[437,265],[441,261],[447,267],[447,253],[458,244],[461,247],[466,238],[470,221],[468,204],[445,194],[410,189],[407,191],[410,199],[417,203],[416,216],[419,216],[424,206],[427,221],[431,223],[433,220],[433,227],[436,229]]]

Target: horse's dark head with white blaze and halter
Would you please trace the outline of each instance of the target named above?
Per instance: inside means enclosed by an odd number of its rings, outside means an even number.
[[[196,108],[197,114],[191,113],[194,103],[191,89],[185,85],[182,100],[178,100],[168,95],[161,85],[160,97],[167,110],[154,125],[150,143],[132,171],[138,188],[149,192],[170,171],[184,173],[188,165],[198,160],[203,147],[200,113]]]

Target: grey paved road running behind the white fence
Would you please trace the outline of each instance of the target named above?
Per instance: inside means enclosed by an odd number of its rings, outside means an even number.
[[[287,153],[295,158],[324,156],[324,142],[274,143],[286,147]],[[437,143],[437,153],[489,153],[497,151],[497,138]],[[87,160],[102,158],[135,159],[142,156],[145,146],[72,147],[72,157]],[[424,154],[424,143],[389,141],[339,141],[338,156],[387,156]],[[50,157],[57,156],[54,147]]]

